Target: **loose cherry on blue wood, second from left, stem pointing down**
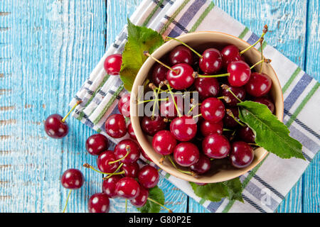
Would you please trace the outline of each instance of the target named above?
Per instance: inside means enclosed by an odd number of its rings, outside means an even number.
[[[85,182],[82,172],[77,169],[69,169],[63,172],[61,184],[66,189],[80,189]]]

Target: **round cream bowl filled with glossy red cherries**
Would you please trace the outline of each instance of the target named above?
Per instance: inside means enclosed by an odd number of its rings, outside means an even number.
[[[204,184],[239,177],[266,157],[237,106],[256,101],[282,121],[282,89],[260,51],[233,35],[197,32],[168,38],[145,55],[132,87],[130,118],[156,165]]]

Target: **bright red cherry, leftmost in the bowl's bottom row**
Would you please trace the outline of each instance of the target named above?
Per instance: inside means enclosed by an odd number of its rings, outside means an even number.
[[[176,147],[176,138],[170,131],[159,131],[152,138],[152,146],[160,155],[170,155]]]

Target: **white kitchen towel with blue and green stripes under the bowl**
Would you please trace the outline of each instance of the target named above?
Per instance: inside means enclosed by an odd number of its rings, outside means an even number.
[[[220,31],[250,44],[259,38],[210,0],[144,0],[130,20],[171,37],[193,31]],[[126,38],[127,30],[124,28],[70,103],[73,106],[77,100],[82,100],[73,116],[100,133],[105,134],[105,120],[110,114],[118,112],[117,101],[126,92],[119,77],[105,74],[103,62],[108,55],[122,52]],[[266,42],[262,43],[262,47],[257,45],[257,48],[262,48],[265,57],[272,59],[272,67],[277,72],[284,93],[284,123],[289,127],[290,135],[302,143],[306,160],[284,160],[269,154],[260,165],[240,177],[244,187],[244,204],[228,199],[206,201],[193,193],[188,182],[161,171],[166,179],[211,212],[273,212],[320,148],[320,121],[314,121],[314,116],[319,116],[319,82]],[[114,143],[119,141],[110,140]]]

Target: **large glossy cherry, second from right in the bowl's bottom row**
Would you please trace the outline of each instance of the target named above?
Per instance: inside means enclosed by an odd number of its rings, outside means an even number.
[[[203,139],[202,150],[208,157],[220,159],[228,156],[230,143],[225,136],[215,133]]]

